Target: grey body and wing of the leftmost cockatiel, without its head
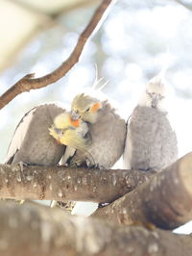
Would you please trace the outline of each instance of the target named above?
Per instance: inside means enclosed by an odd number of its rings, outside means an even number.
[[[54,118],[63,113],[63,109],[56,104],[44,104],[37,106],[33,111],[29,112],[29,120],[27,125],[26,118],[23,123],[27,129],[21,129],[22,141],[15,143],[19,138],[20,133],[15,132],[10,152],[14,149],[14,157],[12,164],[17,162],[25,162],[29,165],[50,166],[57,165],[64,153],[65,146],[60,145],[49,135],[49,127],[53,124]],[[25,126],[23,124],[23,126]],[[15,146],[15,144],[17,146]],[[17,148],[17,151],[15,151]],[[11,154],[9,154],[10,156]]]

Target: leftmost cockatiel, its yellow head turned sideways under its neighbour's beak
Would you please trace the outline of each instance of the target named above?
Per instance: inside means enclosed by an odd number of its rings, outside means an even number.
[[[23,162],[27,165],[55,166],[63,155],[67,161],[75,152],[71,147],[75,147],[76,143],[84,145],[82,135],[86,134],[87,126],[82,123],[79,119],[73,121],[70,115],[56,104],[36,106],[24,115],[17,125],[5,163]],[[66,145],[70,145],[70,150],[67,150]],[[68,156],[64,154],[67,151],[70,151]]]

